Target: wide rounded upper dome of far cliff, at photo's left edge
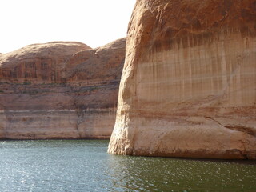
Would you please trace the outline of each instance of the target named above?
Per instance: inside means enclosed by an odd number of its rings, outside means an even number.
[[[2,54],[1,82],[62,82],[65,63],[81,50],[91,48],[81,42],[48,42]]]

